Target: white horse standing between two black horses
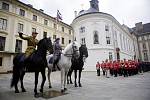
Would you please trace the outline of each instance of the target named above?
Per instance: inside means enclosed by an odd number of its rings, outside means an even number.
[[[53,63],[50,61],[53,61],[52,57],[53,54],[47,56],[49,88],[51,88],[50,74],[52,72]],[[61,70],[61,92],[67,90],[66,79],[68,71],[71,67],[72,57],[79,57],[79,44],[75,41],[65,47],[65,49],[62,51],[61,58],[57,63]]]

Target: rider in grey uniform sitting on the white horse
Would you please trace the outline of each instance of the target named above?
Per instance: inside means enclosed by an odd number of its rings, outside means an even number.
[[[56,38],[54,41],[54,45],[53,45],[53,56],[54,56],[54,61],[53,61],[53,71],[56,71],[56,67],[57,63],[61,57],[61,53],[62,53],[62,47],[60,45],[60,38]],[[59,67],[57,66],[57,68],[59,69]]]

